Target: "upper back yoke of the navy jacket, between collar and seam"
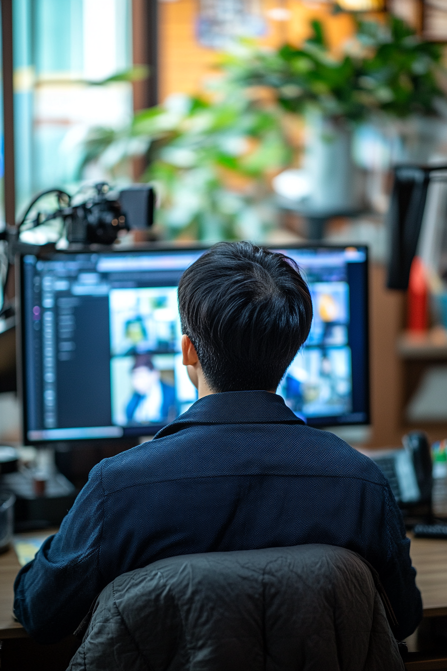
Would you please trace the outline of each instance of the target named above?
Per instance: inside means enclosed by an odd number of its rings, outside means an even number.
[[[287,423],[186,425],[102,463],[105,491],[216,476],[338,477],[387,484],[373,461],[334,433]]]

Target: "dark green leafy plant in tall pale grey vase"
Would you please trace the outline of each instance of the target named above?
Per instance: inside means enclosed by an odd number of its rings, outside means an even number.
[[[367,119],[383,127],[391,119],[438,116],[444,97],[438,83],[442,52],[389,16],[385,23],[359,20],[344,54],[334,58],[321,24],[312,26],[314,34],[302,48],[254,50],[249,58],[230,55],[225,65],[233,83],[271,87],[283,109],[304,115],[307,207],[346,210],[357,198],[353,130]]]

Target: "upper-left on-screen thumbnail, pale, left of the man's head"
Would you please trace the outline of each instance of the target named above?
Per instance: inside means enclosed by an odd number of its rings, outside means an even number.
[[[176,287],[111,289],[109,312],[112,356],[180,351]]]

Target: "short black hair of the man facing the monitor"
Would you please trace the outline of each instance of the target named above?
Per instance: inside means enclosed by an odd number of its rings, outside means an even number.
[[[312,322],[296,263],[250,242],[220,242],[200,256],[180,279],[178,303],[215,392],[276,389]]]

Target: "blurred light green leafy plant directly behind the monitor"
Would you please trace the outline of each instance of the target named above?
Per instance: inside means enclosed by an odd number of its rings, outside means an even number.
[[[169,238],[261,238],[274,223],[270,178],[292,151],[275,104],[259,104],[240,87],[213,101],[178,95],[135,115],[131,127],[96,129],[84,163],[100,159],[112,175],[129,156],[144,153],[162,207],[158,223]]]

